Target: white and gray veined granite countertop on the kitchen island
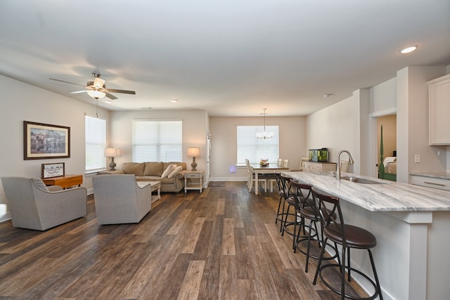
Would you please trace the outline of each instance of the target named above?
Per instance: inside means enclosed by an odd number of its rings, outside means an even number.
[[[450,192],[446,190],[345,173],[342,176],[364,178],[378,181],[380,184],[337,180],[329,172],[286,171],[282,173],[368,211],[450,211]]]

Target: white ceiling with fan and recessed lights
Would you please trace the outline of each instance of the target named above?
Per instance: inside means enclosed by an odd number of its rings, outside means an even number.
[[[449,0],[0,1],[0,74],[95,103],[49,78],[99,72],[110,110],[308,115],[412,65],[450,65]]]

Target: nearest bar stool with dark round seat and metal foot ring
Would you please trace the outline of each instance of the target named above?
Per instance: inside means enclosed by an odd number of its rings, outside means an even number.
[[[319,203],[319,212],[321,214],[321,224],[323,234],[325,235],[324,243],[327,240],[332,240],[342,246],[342,263],[330,263],[324,266],[321,266],[323,260],[323,252],[325,252],[325,247],[322,247],[321,256],[319,258],[319,263],[317,264],[316,275],[314,275],[313,285],[316,285],[317,276],[321,278],[321,281],[324,285],[326,285],[333,292],[336,292],[341,295],[341,299],[345,297],[349,299],[375,299],[377,296],[380,296],[380,299],[383,300],[383,294],[381,294],[380,282],[378,281],[377,271],[375,269],[375,263],[373,262],[373,256],[371,252],[371,248],[375,247],[377,244],[377,240],[375,236],[370,233],[368,230],[363,228],[352,226],[344,223],[344,218],[342,217],[342,210],[340,207],[340,200],[338,197],[325,195],[319,193],[316,189],[312,189],[312,195],[316,202]],[[328,207],[326,207],[328,204]],[[333,214],[337,215],[333,216]],[[366,249],[368,252],[368,256],[371,259],[371,265],[373,270],[373,275],[375,277],[375,282],[368,275],[362,273],[360,270],[356,270],[350,266],[350,249]],[[347,257],[347,265],[345,265],[345,258],[348,252]],[[333,287],[324,280],[322,271],[326,268],[340,268],[341,274],[341,287],[338,289],[337,287]],[[359,296],[352,296],[349,294],[345,294],[345,270],[348,273],[348,281],[352,280],[351,272],[354,271],[359,275],[363,276],[368,282],[373,285],[375,292],[372,296],[368,298],[361,298]]]

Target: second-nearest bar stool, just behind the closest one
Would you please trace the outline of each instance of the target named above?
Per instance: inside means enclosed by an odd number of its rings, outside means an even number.
[[[333,256],[327,256],[326,258],[323,258],[323,260],[330,260],[330,259],[338,259],[340,262],[339,256],[338,256],[338,245],[334,243],[334,247],[330,244],[323,244],[323,231],[319,231],[317,228],[317,223],[320,224],[320,214],[319,210],[316,207],[316,201],[312,199],[312,185],[305,184],[305,183],[298,183],[295,181],[291,181],[291,187],[296,191],[296,193],[293,193],[294,197],[297,197],[297,202],[300,203],[300,226],[298,228],[297,232],[297,238],[295,240],[295,248],[294,252],[298,249],[302,254],[305,254],[307,256],[306,266],[304,268],[304,272],[308,273],[308,266],[309,266],[309,258],[313,259],[319,259],[319,256],[311,254],[311,241],[316,241],[319,248],[321,247],[330,247],[333,249],[335,254]],[[307,221],[309,221],[309,224],[307,225]],[[303,233],[306,234],[304,231],[308,230],[307,235],[300,235],[301,230],[303,228]],[[308,228],[308,229],[307,229]],[[307,242],[307,251],[305,252],[303,249],[299,247],[299,244],[301,242]]]

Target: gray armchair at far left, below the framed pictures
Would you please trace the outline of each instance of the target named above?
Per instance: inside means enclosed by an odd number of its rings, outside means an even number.
[[[86,216],[86,188],[46,187],[40,178],[2,177],[13,226],[46,230]]]

